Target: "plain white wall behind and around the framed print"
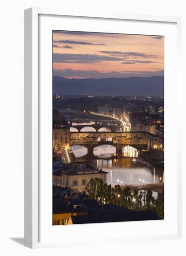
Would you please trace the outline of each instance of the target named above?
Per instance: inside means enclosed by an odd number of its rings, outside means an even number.
[[[6,0],[1,1],[0,12],[0,104],[1,104],[1,210],[0,215],[0,253],[5,255],[183,255],[181,241],[122,243],[85,248],[31,250],[16,243],[24,236],[24,176],[23,176],[23,73],[24,73],[24,9],[29,7],[55,7],[61,10],[84,8],[100,12],[145,13],[155,15],[182,16],[183,46],[186,46],[186,7],[184,0]],[[186,49],[183,47],[183,60]],[[185,61],[184,61],[185,62]],[[184,63],[185,64],[185,63]],[[185,72],[184,72],[185,73]],[[186,85],[186,79],[184,78]],[[182,94],[186,95],[186,94]],[[10,139],[10,140],[9,140]],[[183,168],[184,169],[184,168]],[[186,168],[185,168],[186,169]],[[185,173],[183,174],[186,177]],[[184,179],[186,180],[186,179]],[[184,198],[184,196],[183,196]],[[185,197],[186,198],[186,197]],[[183,205],[185,208],[185,204]],[[185,213],[186,216],[186,213]],[[185,222],[185,220],[184,220]],[[186,224],[186,223],[185,223]],[[185,234],[185,233],[184,233]],[[4,250],[4,253],[2,253]]]

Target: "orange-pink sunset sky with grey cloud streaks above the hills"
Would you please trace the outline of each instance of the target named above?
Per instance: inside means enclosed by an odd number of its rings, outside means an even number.
[[[53,76],[149,77],[164,74],[164,37],[53,30]]]

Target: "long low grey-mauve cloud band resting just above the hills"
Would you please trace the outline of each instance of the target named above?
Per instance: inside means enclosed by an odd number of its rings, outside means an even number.
[[[154,75],[164,75],[164,70],[158,71],[126,71],[126,72],[108,72],[102,73],[97,70],[73,70],[73,69],[54,69],[53,76],[63,76],[63,77],[84,77],[84,78],[124,78],[131,76],[154,76]]]

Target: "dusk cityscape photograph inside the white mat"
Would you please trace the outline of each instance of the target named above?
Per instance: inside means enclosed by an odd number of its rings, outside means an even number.
[[[52,30],[52,225],[164,219],[164,36]]]

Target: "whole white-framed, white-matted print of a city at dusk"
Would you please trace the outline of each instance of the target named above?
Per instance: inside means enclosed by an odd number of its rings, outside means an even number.
[[[180,22],[25,11],[26,246],[180,237]]]

